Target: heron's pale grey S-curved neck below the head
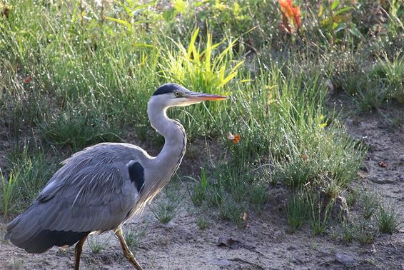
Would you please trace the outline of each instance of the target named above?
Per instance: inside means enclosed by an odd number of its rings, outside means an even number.
[[[178,121],[169,119],[165,107],[156,109],[156,106],[148,107],[148,119],[159,134],[164,136],[165,142],[160,154],[156,156],[156,162],[166,173],[174,174],[181,164],[186,149],[186,134]]]

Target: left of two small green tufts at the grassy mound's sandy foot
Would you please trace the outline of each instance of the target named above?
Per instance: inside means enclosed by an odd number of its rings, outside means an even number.
[[[288,199],[286,205],[286,216],[291,233],[295,232],[305,224],[308,217],[308,201],[304,194],[296,194]]]

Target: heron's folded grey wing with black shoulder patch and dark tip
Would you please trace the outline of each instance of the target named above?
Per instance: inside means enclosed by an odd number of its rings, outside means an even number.
[[[128,155],[87,159],[85,153],[68,160],[34,204],[8,224],[6,239],[41,253],[55,245],[70,246],[91,231],[116,229],[126,220],[144,181],[141,162]]]

